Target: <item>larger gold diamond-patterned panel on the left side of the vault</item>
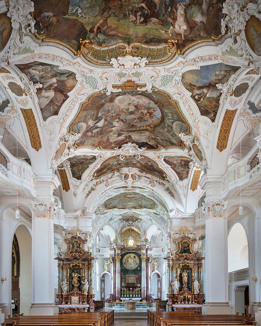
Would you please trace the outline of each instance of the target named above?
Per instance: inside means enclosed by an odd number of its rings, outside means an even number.
[[[42,148],[39,130],[32,109],[20,109],[27,127],[32,148],[37,152]]]

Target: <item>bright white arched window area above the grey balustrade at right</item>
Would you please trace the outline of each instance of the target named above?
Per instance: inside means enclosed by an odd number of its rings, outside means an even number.
[[[236,223],[230,230],[228,242],[228,272],[248,268],[248,243],[244,228]]]

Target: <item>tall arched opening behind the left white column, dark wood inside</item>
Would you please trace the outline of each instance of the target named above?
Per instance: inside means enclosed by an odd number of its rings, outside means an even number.
[[[15,230],[11,255],[12,312],[29,315],[32,303],[32,237],[24,225]]]

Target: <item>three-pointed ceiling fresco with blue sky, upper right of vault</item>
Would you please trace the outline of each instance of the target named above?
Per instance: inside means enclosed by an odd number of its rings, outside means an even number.
[[[216,85],[227,82],[239,68],[218,63],[183,74],[181,82],[192,93],[201,115],[208,117],[212,122],[215,121],[222,94]]]

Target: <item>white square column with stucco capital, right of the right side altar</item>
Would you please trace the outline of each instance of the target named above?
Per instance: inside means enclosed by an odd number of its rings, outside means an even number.
[[[202,314],[231,314],[228,304],[226,203],[206,203],[206,302]]]

